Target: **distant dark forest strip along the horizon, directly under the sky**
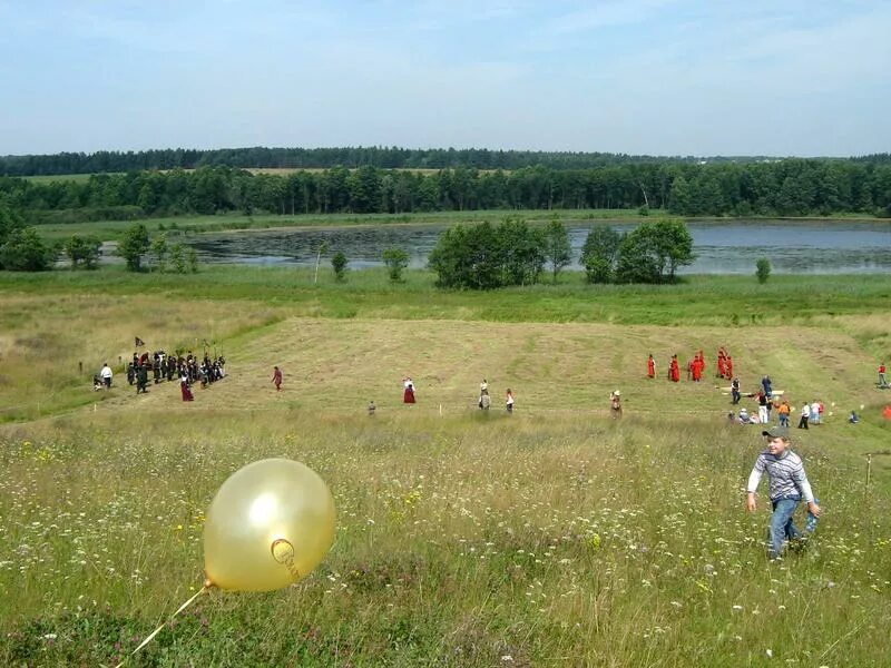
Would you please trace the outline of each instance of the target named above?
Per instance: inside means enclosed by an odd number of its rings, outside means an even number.
[[[763,156],[705,158],[708,164],[763,163]],[[891,154],[851,158],[862,163],[891,161]],[[347,146],[331,148],[165,148],[139,151],[100,150],[51,155],[0,156],[0,175],[60,176],[140,171],[145,169],[197,169],[199,167],[236,167],[241,169],[330,169],[332,167],[378,167],[379,169],[522,169],[541,166],[550,169],[589,169],[630,164],[697,164],[694,156],[633,156],[626,154],[584,151],[492,150],[487,148],[400,148],[384,146]]]

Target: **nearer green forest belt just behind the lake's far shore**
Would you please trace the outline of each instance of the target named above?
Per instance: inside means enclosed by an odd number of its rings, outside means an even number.
[[[891,161],[631,163],[587,169],[457,167],[253,174],[233,167],[0,177],[29,224],[192,214],[403,214],[472,209],[665,209],[681,216],[891,216]]]

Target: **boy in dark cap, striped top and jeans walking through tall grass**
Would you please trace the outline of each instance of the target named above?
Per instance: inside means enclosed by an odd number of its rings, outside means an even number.
[[[811,483],[804,472],[801,458],[790,450],[789,429],[775,426],[761,432],[767,439],[767,449],[758,454],[746,484],[746,509],[757,509],[755,492],[761,478],[766,471],[770,478],[770,495],[773,515],[767,529],[767,556],[771,560],[780,559],[785,543],[802,538],[795,527],[793,515],[802,499],[807,503],[807,525],[813,528],[820,517],[820,505],[814,499]]]

